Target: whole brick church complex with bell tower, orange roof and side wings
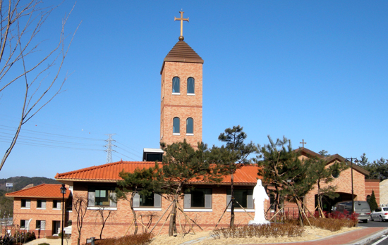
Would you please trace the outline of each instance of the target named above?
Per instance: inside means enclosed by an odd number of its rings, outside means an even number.
[[[160,103],[160,143],[173,144],[174,142],[183,142],[184,139],[193,146],[197,147],[198,142],[202,142],[202,66],[204,61],[202,58],[184,41],[183,37],[183,21],[188,21],[188,18],[183,18],[183,12],[180,18],[175,18],[181,23],[181,35],[178,37],[178,42],[168,52],[162,63],[161,75],[161,103]],[[302,158],[310,156],[322,157],[319,154],[305,149],[301,151]],[[136,168],[150,168],[154,166],[155,160],[162,159],[163,151],[161,149],[145,149],[143,161],[119,161],[116,163],[107,163],[104,165],[92,166],[71,172],[57,173],[55,179],[59,182],[71,187],[71,194],[68,199],[73,199],[73,211],[66,211],[68,220],[72,220],[72,244],[77,244],[78,228],[77,220],[79,219],[78,212],[75,211],[75,200],[82,199],[85,201],[85,217],[83,218],[83,227],[81,231],[80,241],[85,244],[90,237],[99,237],[102,232],[102,238],[107,237],[122,237],[127,234],[128,230],[131,233],[133,214],[129,206],[129,202],[125,200],[112,201],[115,198],[116,182],[121,180],[119,172],[133,172]],[[328,158],[327,165],[336,161],[346,161],[345,158],[339,155],[333,155]],[[356,200],[365,200],[371,194],[372,188],[375,185],[368,185],[365,182],[365,175],[368,171],[363,170],[358,166],[354,166],[353,172],[350,169],[344,170],[336,177],[334,184],[338,185],[341,200],[348,199],[351,194],[351,178],[354,179],[354,193]],[[236,206],[235,209],[235,224],[248,224],[249,220],[253,220],[254,204],[253,204],[253,188],[257,183],[257,179],[261,179],[257,175],[256,165],[244,165],[236,170],[234,174],[234,193],[235,198],[241,206]],[[370,182],[372,183],[372,182]],[[263,183],[266,184],[266,183]],[[182,196],[179,200],[183,211],[203,230],[213,230],[219,221],[218,227],[228,227],[231,217],[231,210],[228,203],[231,199],[230,186],[231,177],[224,176],[219,184],[211,184],[198,182],[193,180],[190,185],[195,187],[190,195]],[[59,190],[58,190],[59,191]],[[377,194],[377,189],[374,189]],[[315,194],[316,189],[310,191],[305,196],[305,206],[311,211],[315,209]],[[14,208],[23,208],[24,197],[15,196]],[[20,197],[20,198],[19,198]],[[29,197],[30,198],[30,197]],[[47,200],[53,199],[51,196]],[[39,196],[33,196],[31,201],[38,202]],[[341,201],[340,199],[338,199]],[[273,201],[273,200],[272,200]],[[267,218],[271,218],[274,211],[269,208],[271,201],[265,203],[265,211]],[[53,203],[56,203],[54,200]],[[168,223],[163,225],[169,215],[169,207],[171,201],[164,199],[164,196],[152,194],[151,196],[135,195],[133,207],[138,216],[139,233],[149,232],[155,226],[153,232],[167,232]],[[54,204],[53,204],[54,205]],[[329,211],[332,203],[327,203],[327,211]],[[37,207],[37,204],[31,207]],[[54,205],[55,206],[55,205]],[[51,209],[55,209],[55,207]],[[292,203],[287,204],[287,211],[297,213],[297,209]],[[35,211],[33,208],[26,208],[28,211],[18,211],[25,215],[19,215],[14,222],[21,224],[25,220],[30,220],[28,229],[42,232],[42,223],[47,224],[49,232],[44,234],[49,235],[57,232],[58,222],[55,225],[52,220],[37,220],[41,211]],[[224,212],[226,211],[226,212]],[[15,212],[15,211],[14,211]],[[35,215],[35,216],[34,216]],[[107,218],[109,215],[109,218]],[[54,217],[54,216],[53,216]],[[221,220],[219,220],[222,217]],[[107,218],[107,222],[102,224],[101,220]],[[187,219],[181,215],[177,217],[177,224],[181,224],[185,230],[189,230]],[[42,219],[42,218],[40,218]],[[56,220],[59,220],[56,217]],[[157,222],[157,220],[162,220]],[[39,222],[38,222],[39,221]],[[140,224],[141,223],[141,224]],[[40,225],[40,226],[39,226]],[[66,225],[65,225],[66,226]],[[51,228],[52,227],[52,228]],[[198,227],[195,231],[200,230]],[[128,234],[129,234],[128,233]]]

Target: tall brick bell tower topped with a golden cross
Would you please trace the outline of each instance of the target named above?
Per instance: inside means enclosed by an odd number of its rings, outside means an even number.
[[[202,65],[203,60],[181,36],[164,58],[162,70],[162,102],[160,103],[160,142],[183,142],[193,147],[202,142]]]

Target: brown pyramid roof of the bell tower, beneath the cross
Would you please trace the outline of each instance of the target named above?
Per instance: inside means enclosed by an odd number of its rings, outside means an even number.
[[[166,58],[164,58],[163,61],[162,70],[160,70],[160,74],[162,74],[164,63],[166,61],[203,63],[202,58],[197,53],[195,53],[195,51],[184,41],[178,41],[169,51],[169,54],[166,55]]]

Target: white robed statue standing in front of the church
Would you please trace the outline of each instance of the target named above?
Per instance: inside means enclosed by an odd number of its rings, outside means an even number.
[[[261,184],[261,180],[257,180],[257,184],[253,189],[253,201],[255,201],[255,220],[250,220],[250,225],[269,224],[269,221],[264,217],[264,201],[269,199],[267,192]]]

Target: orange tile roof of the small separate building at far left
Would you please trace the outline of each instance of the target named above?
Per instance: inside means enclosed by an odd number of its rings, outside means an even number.
[[[40,184],[36,187],[30,187],[27,189],[21,189],[20,191],[14,191],[7,193],[6,196],[9,197],[39,197],[39,198],[52,198],[52,199],[61,199],[61,184]],[[66,194],[64,195],[65,199],[68,199],[70,196],[70,190],[66,188]]]

